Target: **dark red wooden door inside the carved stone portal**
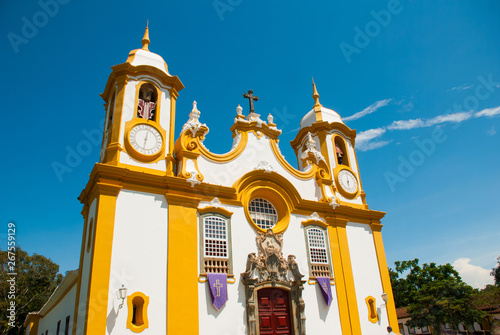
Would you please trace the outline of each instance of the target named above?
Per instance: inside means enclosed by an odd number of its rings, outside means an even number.
[[[288,292],[264,288],[257,292],[260,335],[291,335]]]

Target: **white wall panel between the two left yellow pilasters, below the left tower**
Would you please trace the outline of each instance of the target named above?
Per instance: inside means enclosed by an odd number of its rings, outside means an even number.
[[[168,208],[164,196],[120,191],[111,255],[108,292],[107,334],[131,333],[126,330],[127,301],[116,292],[122,285],[127,294],[142,292],[149,297],[149,328],[141,334],[165,334],[167,315]]]

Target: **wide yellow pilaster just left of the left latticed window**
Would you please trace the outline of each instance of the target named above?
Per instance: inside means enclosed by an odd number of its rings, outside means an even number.
[[[183,205],[180,199],[166,197],[167,334],[198,334],[198,213],[196,208]]]

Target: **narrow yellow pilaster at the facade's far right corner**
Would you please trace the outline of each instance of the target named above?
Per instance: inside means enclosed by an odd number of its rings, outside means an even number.
[[[394,295],[392,293],[391,278],[387,267],[387,260],[385,257],[384,242],[382,241],[382,225],[371,224],[373,242],[375,244],[375,252],[377,253],[378,267],[380,271],[380,280],[382,281],[382,289],[387,293],[387,318],[389,325],[393,329],[398,329],[398,317],[396,315],[396,305],[394,303]]]

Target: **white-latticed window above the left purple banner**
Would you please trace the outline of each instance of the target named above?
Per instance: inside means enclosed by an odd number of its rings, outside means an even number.
[[[202,273],[231,273],[228,219],[207,214],[203,223]]]

